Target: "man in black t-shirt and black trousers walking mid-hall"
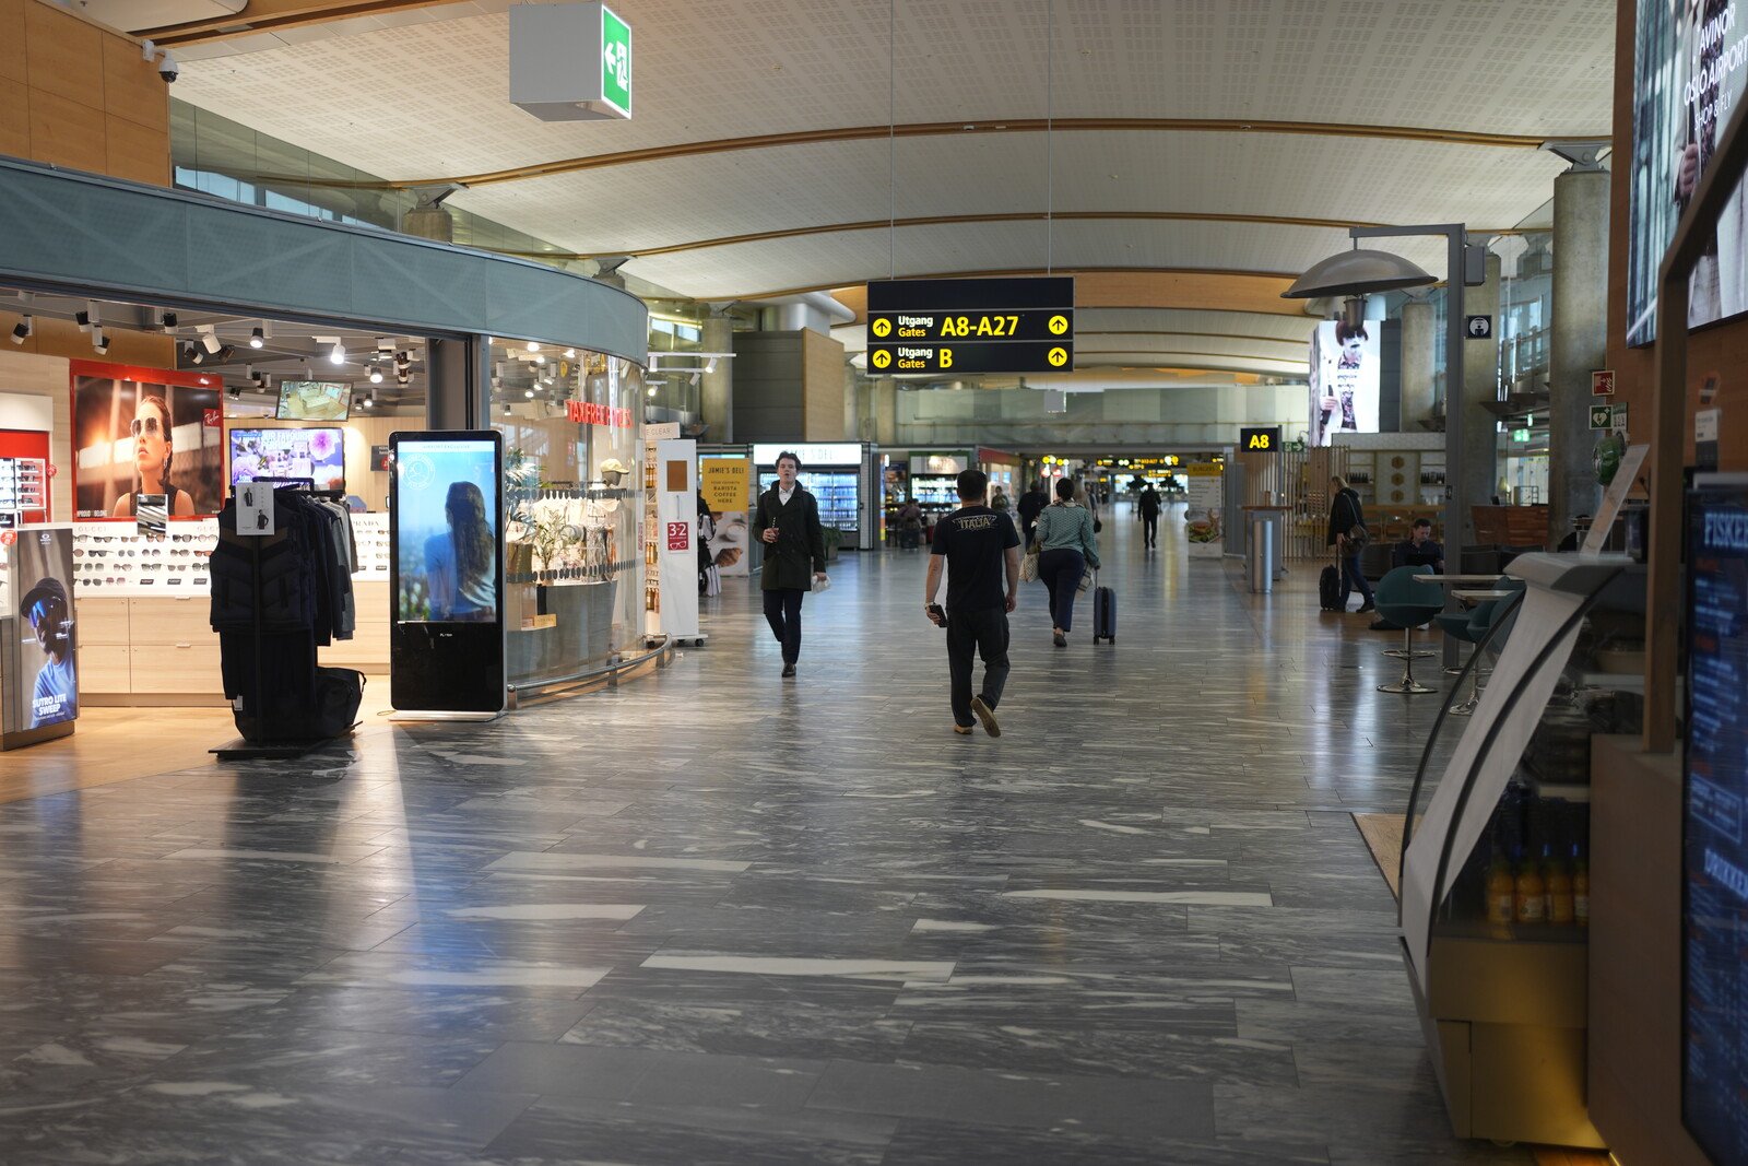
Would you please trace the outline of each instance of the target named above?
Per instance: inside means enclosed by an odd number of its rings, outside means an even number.
[[[935,523],[923,608],[932,621],[947,629],[953,731],[968,734],[981,720],[984,732],[995,738],[1002,736],[995,706],[1002,701],[1002,685],[1007,684],[1007,614],[1014,610],[1019,596],[1019,533],[1014,530],[1014,519],[986,505],[988,474],[965,470],[960,474],[958,488],[960,509]],[[935,607],[942,565],[947,566],[944,614]],[[979,696],[972,696],[974,652],[984,663]]]

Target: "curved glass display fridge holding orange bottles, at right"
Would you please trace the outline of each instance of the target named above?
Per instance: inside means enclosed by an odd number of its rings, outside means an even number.
[[[1585,1105],[1591,750],[1643,722],[1645,573],[1526,554],[1470,598],[1479,643],[1453,685],[1468,699],[1439,711],[1386,864],[1409,984],[1460,1136],[1601,1147]]]

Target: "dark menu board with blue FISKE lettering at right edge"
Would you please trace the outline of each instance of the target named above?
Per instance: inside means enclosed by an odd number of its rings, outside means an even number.
[[[1748,475],[1689,496],[1682,1119],[1748,1163]]]

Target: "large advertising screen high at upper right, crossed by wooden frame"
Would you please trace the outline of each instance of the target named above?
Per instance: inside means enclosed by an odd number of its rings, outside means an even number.
[[[1748,82],[1748,21],[1734,0],[1640,0],[1633,61],[1627,344],[1657,339],[1657,269]],[[1687,323],[1748,311],[1741,185],[1689,281]]]

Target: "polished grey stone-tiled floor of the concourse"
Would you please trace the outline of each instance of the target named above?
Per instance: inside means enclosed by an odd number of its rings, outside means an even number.
[[[615,692],[0,806],[0,1161],[1526,1163],[1451,1138],[1351,820],[1437,698],[1124,519],[1000,739],[888,552],[794,682],[731,586]]]

